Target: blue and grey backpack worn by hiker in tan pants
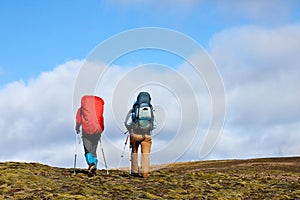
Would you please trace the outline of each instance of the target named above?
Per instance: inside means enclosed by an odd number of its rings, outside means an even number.
[[[153,108],[148,92],[140,92],[132,108],[132,121],[137,133],[150,133],[153,130]]]

